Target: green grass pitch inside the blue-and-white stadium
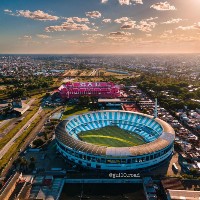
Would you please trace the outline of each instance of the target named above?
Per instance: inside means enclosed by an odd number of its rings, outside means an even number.
[[[98,130],[90,130],[79,133],[82,141],[109,147],[131,147],[145,144],[139,135],[119,128],[118,126],[106,126]]]

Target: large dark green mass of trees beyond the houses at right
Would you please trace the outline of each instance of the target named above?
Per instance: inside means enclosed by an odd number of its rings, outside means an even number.
[[[164,74],[158,76],[155,74],[143,73],[136,78],[122,79],[120,83],[124,85],[138,85],[139,88],[152,98],[157,97],[161,105],[167,109],[182,109],[184,106],[190,109],[200,107],[198,102],[192,100],[200,99],[200,82],[192,83],[192,87],[198,89],[190,91],[189,85],[191,85],[191,82],[189,80],[169,78]]]

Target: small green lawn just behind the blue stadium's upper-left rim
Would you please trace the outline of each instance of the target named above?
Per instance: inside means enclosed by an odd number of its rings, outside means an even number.
[[[62,119],[66,119],[69,116],[72,115],[79,115],[83,114],[89,111],[89,108],[83,107],[80,105],[75,105],[75,106],[67,106],[65,111],[63,112]]]

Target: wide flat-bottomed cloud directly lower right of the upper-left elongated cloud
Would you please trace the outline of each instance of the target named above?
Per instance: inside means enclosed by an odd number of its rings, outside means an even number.
[[[46,32],[54,32],[54,31],[88,31],[91,29],[87,26],[87,24],[64,22],[61,25],[48,26],[45,28],[45,30]]]

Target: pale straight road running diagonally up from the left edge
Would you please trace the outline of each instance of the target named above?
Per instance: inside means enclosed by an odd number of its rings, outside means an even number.
[[[1,149],[0,159],[7,153],[10,147],[15,143],[15,140],[22,135],[22,133],[31,125],[31,123],[36,119],[36,117],[42,112],[40,107],[38,111],[33,115],[31,119],[15,134],[15,136]]]

